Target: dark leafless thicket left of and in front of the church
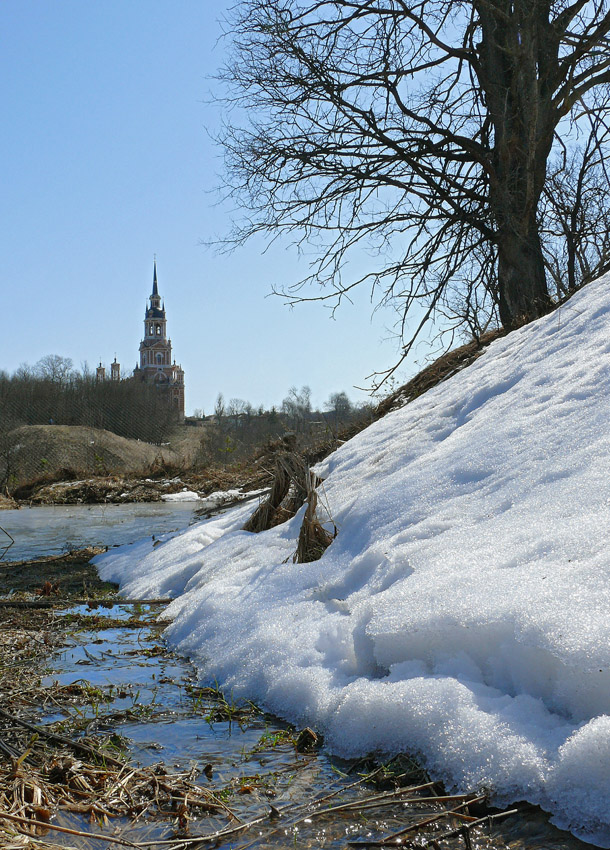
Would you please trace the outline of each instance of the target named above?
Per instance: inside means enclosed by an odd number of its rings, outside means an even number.
[[[140,381],[97,380],[69,357],[47,355],[13,375],[0,372],[0,433],[20,425],[85,425],[121,437],[164,442],[175,424],[164,388]]]

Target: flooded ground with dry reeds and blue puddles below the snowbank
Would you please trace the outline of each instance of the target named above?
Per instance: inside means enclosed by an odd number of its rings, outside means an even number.
[[[406,757],[331,760],[311,730],[200,687],[162,605],[117,598],[90,553],[5,565],[20,578],[0,597],[7,850],[506,847],[482,795],[447,795]]]

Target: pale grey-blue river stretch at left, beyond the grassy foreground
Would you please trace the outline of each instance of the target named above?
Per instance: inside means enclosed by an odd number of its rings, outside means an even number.
[[[127,505],[54,505],[0,511],[0,526],[15,541],[4,558],[21,561],[85,546],[117,546],[185,528],[196,502]],[[9,538],[0,532],[0,556]]]

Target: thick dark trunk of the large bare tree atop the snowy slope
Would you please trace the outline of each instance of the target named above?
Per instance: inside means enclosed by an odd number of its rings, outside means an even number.
[[[496,225],[498,306],[505,328],[548,313],[537,210],[556,115],[549,80],[556,45],[545,41],[548,0],[475,0],[480,15],[478,76],[493,128],[489,199]]]

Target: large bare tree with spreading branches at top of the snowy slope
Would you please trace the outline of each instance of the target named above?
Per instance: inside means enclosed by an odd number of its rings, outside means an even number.
[[[292,234],[316,257],[289,297],[366,282],[403,333],[423,307],[411,341],[456,296],[507,328],[544,314],[547,162],[610,82],[609,31],[606,0],[242,0],[220,75],[226,188],[248,210],[229,244]],[[364,243],[379,267],[345,280]]]

